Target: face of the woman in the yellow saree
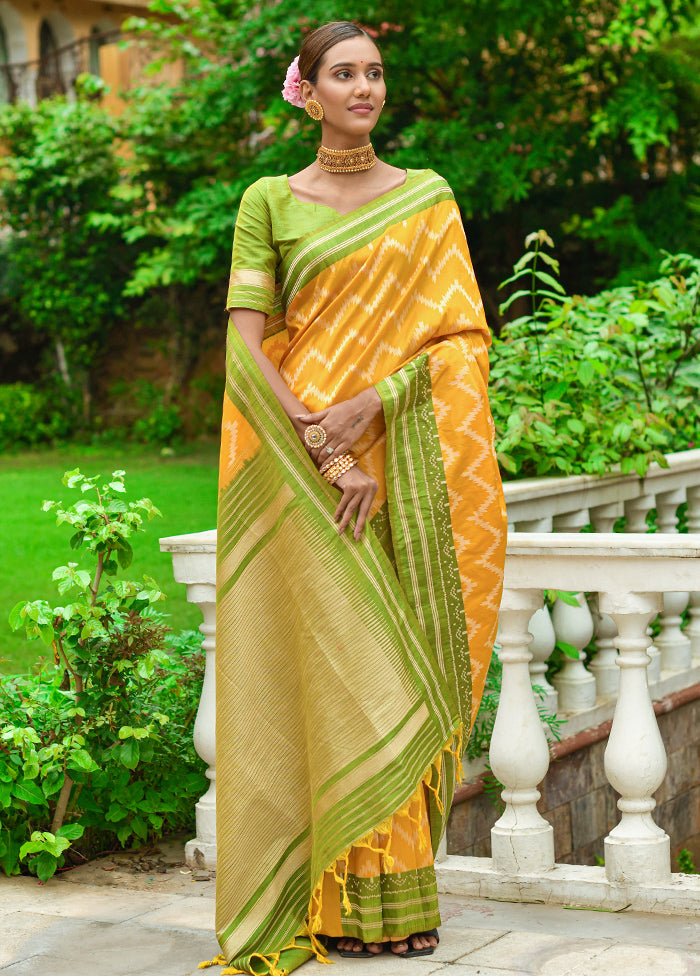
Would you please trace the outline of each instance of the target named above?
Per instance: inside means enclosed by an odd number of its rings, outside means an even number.
[[[316,84],[302,86],[304,98],[323,106],[324,142],[333,134],[356,143],[377,124],[386,97],[382,56],[368,37],[340,41],[323,56]]]

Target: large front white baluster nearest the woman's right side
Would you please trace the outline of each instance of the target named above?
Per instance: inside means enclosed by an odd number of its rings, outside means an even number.
[[[506,589],[499,611],[503,680],[489,756],[504,786],[505,810],[491,830],[491,849],[494,869],[510,875],[554,867],[554,830],[537,810],[549,747],[528,669],[527,627],[541,606],[541,590]]]

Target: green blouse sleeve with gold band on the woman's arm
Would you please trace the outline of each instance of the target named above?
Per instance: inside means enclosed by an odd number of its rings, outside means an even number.
[[[270,210],[261,180],[243,194],[233,235],[226,310],[254,308],[269,315],[275,297],[277,252]]]

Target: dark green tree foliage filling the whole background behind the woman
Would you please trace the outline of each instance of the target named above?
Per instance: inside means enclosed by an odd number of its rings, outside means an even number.
[[[315,152],[316,124],[281,98],[286,67],[306,32],[356,14],[340,0],[301,13],[152,0],[132,31],[179,60],[180,82],[144,82],[118,122],[86,97],[0,110],[0,298],[86,400],[108,329],[136,303],[170,364],[148,423],[177,424],[223,318],[244,189]],[[439,16],[428,0],[370,0],[361,17],[387,68],[377,150],[452,185],[496,331],[497,285],[543,213],[568,294],[636,288],[662,248],[700,254],[697,0],[465,0]]]

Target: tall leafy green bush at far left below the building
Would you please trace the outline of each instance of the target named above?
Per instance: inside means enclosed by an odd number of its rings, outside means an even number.
[[[97,106],[63,98],[0,112],[3,284],[24,319],[51,343],[55,372],[82,390],[106,329],[124,310],[130,271],[119,227],[94,215],[122,205],[117,123]]]

